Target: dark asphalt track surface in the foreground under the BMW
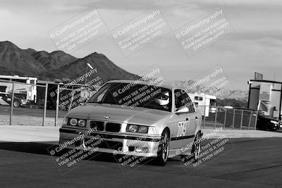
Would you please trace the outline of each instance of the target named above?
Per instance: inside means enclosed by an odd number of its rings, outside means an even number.
[[[57,142],[0,142],[0,187],[282,187],[281,137],[230,140],[197,167],[175,157],[128,170],[99,153],[64,174],[47,152]]]

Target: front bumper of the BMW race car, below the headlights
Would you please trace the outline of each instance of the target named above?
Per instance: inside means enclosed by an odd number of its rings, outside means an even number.
[[[114,132],[92,132],[85,136],[85,129],[60,128],[61,148],[98,151],[130,156],[156,157],[161,137],[132,135]]]

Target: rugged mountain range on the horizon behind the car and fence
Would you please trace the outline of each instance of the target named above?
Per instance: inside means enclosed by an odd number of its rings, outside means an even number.
[[[97,52],[84,58],[76,58],[63,51],[49,53],[35,49],[20,49],[12,42],[0,42],[0,75],[19,75],[38,77],[39,80],[70,82],[87,72],[87,63],[97,68],[98,75],[104,82],[109,80],[137,80],[140,78],[139,75],[128,73],[128,71],[110,61],[104,54]],[[95,75],[97,76],[97,74]],[[168,83],[185,86],[192,82],[195,81],[171,81]],[[200,86],[197,89],[200,89]],[[247,92],[228,91],[227,94],[218,96],[218,98],[247,101]]]

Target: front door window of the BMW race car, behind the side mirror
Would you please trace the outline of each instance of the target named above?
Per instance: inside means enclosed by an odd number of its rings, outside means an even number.
[[[181,106],[187,106],[189,108],[189,113],[195,112],[192,101],[184,90],[176,89],[174,92],[176,97],[176,109]]]

